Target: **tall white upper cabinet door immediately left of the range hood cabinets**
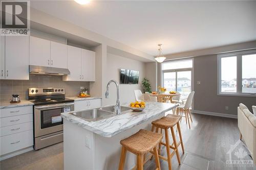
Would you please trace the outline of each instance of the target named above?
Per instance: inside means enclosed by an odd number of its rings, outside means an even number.
[[[29,36],[5,37],[6,79],[29,80]]]

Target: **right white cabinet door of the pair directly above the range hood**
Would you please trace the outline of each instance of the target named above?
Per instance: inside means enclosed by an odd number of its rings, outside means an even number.
[[[51,66],[67,68],[67,45],[51,41]]]

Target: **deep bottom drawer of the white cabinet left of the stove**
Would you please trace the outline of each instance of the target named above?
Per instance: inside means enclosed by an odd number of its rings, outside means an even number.
[[[33,130],[0,137],[0,155],[5,155],[33,145]]]

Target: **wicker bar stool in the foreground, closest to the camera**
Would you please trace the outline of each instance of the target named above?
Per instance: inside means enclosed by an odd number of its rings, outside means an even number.
[[[144,163],[150,158],[145,159],[144,155],[148,152],[155,155],[156,166],[160,170],[160,162],[157,152],[157,145],[162,140],[163,135],[147,130],[139,130],[139,132],[133,134],[126,139],[120,141],[122,145],[121,157],[119,162],[119,170],[122,170],[124,167],[126,151],[130,151],[133,154],[137,155],[137,169],[142,170]],[[152,151],[153,150],[153,151]],[[136,167],[135,167],[136,168]]]

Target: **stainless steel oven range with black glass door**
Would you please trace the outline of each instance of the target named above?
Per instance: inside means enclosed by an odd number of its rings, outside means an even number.
[[[74,111],[74,100],[64,88],[29,88],[34,103],[34,150],[63,141],[62,112]]]

